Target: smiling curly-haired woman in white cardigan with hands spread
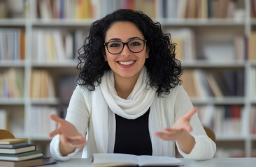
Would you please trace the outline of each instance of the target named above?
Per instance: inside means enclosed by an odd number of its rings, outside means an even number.
[[[213,157],[216,145],[180,86],[175,45],[159,23],[141,12],[117,10],[92,24],[79,54],[78,86],[66,120],[50,116],[59,125],[49,134],[55,136],[52,157],[71,159],[85,145],[87,157],[175,157],[175,144],[185,158]]]

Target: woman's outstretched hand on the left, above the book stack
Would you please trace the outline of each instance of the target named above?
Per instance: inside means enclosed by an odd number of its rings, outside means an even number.
[[[50,119],[58,123],[57,129],[49,133],[50,138],[59,134],[59,141],[64,144],[69,144],[73,148],[81,148],[87,143],[85,138],[70,122],[57,117],[55,114],[51,114]]]

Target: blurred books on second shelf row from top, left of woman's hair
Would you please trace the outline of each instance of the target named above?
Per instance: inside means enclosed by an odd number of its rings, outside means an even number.
[[[32,33],[31,60],[40,63],[73,61],[73,55],[83,46],[86,35],[82,30],[73,34],[57,29],[35,29]],[[24,49],[22,29],[0,29],[0,61],[24,61]]]

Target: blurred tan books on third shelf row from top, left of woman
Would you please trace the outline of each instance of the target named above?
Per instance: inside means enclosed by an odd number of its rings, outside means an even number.
[[[31,70],[30,97],[52,99],[56,97],[56,92],[59,92],[60,99],[67,102],[76,88],[76,78],[76,74],[60,74],[56,79],[58,81],[54,81],[48,70]],[[0,99],[22,97],[24,97],[24,70],[8,68],[0,72]]]

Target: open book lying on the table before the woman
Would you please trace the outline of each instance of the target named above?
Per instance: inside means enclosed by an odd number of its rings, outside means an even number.
[[[106,166],[182,166],[183,161],[175,157],[132,154],[93,154],[93,167]]]

